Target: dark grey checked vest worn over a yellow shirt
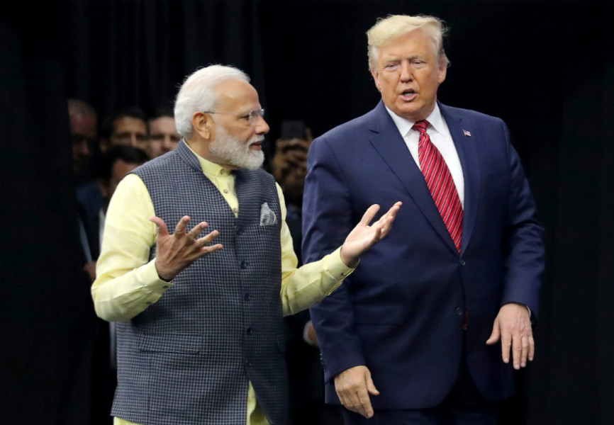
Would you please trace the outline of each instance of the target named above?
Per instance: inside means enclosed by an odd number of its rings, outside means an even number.
[[[208,222],[224,248],[118,324],[113,416],[147,425],[245,425],[247,382],[272,424],[287,424],[281,299],[281,211],[272,176],[237,171],[238,218],[184,142],[134,171],[169,232]],[[264,206],[266,204],[266,206]],[[150,258],[155,256],[152,247]]]

